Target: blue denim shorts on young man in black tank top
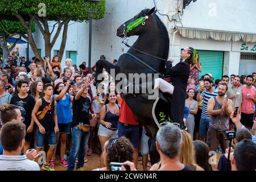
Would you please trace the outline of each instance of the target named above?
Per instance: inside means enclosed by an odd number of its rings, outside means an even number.
[[[49,146],[56,146],[56,134],[54,130],[46,131],[45,134],[40,133],[39,129],[36,130],[36,148],[43,148],[44,140],[48,137]]]

